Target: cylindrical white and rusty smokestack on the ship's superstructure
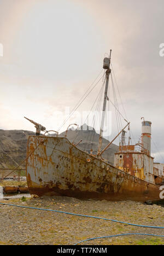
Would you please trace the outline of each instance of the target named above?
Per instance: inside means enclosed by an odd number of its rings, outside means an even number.
[[[150,155],[151,154],[151,122],[150,121],[142,122],[141,143],[144,148],[143,152]]]

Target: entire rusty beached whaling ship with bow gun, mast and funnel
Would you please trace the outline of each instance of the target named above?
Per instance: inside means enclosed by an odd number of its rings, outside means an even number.
[[[125,143],[127,122],[121,135],[114,165],[102,157],[111,143],[102,150],[103,126],[108,99],[110,56],[104,59],[103,112],[97,154],[85,152],[68,140],[67,136],[40,135],[45,127],[34,123],[36,136],[27,142],[26,176],[31,194],[71,196],[79,199],[159,201],[163,184],[163,169],[151,157],[151,122],[143,120],[142,136],[138,144]],[[116,108],[116,110],[118,110]],[[126,120],[125,120],[126,121]],[[46,132],[45,132],[46,133]],[[79,142],[80,143],[80,142]],[[161,165],[160,165],[161,166]],[[164,165],[163,165],[164,168]]]

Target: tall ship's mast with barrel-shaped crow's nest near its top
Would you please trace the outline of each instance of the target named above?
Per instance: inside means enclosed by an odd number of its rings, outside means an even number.
[[[111,73],[110,69],[110,59],[111,59],[112,50],[110,50],[110,56],[107,58],[104,58],[104,65],[103,68],[106,69],[106,88],[104,92],[104,103],[103,103],[103,112],[102,112],[102,120],[101,120],[101,129],[99,133],[99,145],[98,145],[98,155],[101,152],[102,147],[102,136],[103,136],[103,129],[104,129],[104,120],[106,115],[106,105],[108,100],[108,85],[109,85],[109,75]]]

